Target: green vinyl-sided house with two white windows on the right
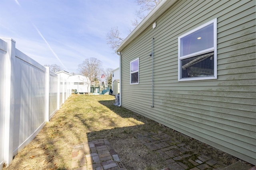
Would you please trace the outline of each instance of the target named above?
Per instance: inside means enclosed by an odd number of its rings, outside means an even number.
[[[116,49],[120,105],[256,165],[255,0],[161,0]]]

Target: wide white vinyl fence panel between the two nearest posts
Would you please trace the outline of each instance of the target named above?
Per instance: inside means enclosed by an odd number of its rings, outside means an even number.
[[[14,154],[17,154],[45,124],[45,70],[16,49],[14,105]],[[23,146],[22,146],[23,145]],[[20,148],[20,150],[19,150]]]

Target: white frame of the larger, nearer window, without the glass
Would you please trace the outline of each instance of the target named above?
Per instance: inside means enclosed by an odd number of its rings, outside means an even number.
[[[210,25],[212,23],[213,23],[213,27],[214,27],[214,35],[213,35],[214,47],[209,48],[209,49],[204,49],[204,50],[198,51],[196,53],[180,56],[180,50],[181,50],[180,39],[182,37],[185,37],[185,36],[191,34],[191,33],[194,33],[195,31],[197,31],[203,27],[206,27],[207,25]],[[209,53],[209,52],[214,52],[214,75],[213,76],[181,78],[181,76],[182,76],[181,60],[182,59],[195,57],[195,56],[202,55],[204,53]],[[181,35],[180,37],[178,37],[178,81],[210,80],[210,79],[216,79],[216,78],[217,78],[217,18],[215,18],[214,20],[211,20],[211,21],[201,25],[200,27],[197,27],[197,28],[189,31],[188,33],[185,33],[185,34]]]

